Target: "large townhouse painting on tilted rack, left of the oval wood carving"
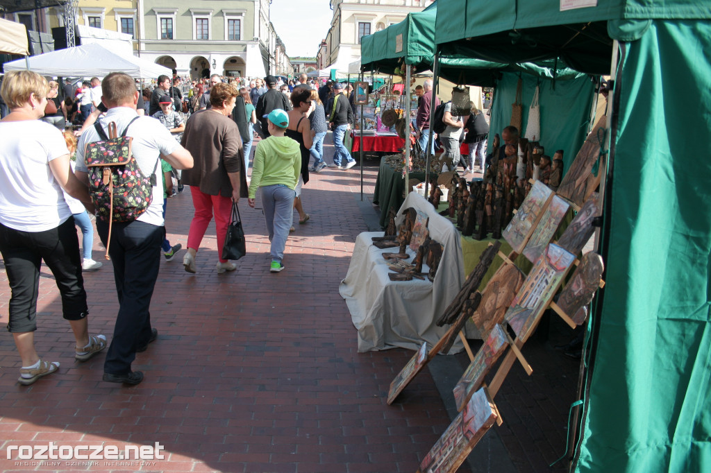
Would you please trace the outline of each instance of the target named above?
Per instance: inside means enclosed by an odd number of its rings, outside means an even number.
[[[574,260],[573,254],[551,243],[533,265],[504,316],[518,339],[528,339]]]

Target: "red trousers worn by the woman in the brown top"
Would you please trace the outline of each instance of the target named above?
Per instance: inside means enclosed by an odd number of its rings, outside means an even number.
[[[201,192],[198,187],[190,187],[190,192],[193,195],[193,207],[195,207],[195,216],[190,222],[190,232],[188,232],[188,248],[193,248],[196,251],[200,248],[200,242],[203,241],[205,230],[208,229],[210,220],[215,215],[215,231],[218,235],[218,258],[220,263],[225,263],[227,260],[222,259],[222,249],[225,244],[225,235],[227,235],[227,227],[230,225],[230,217],[232,212],[232,199],[221,195],[209,195]]]

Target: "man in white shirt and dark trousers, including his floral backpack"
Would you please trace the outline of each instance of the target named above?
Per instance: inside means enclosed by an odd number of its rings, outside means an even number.
[[[129,75],[110,73],[102,93],[109,110],[82,134],[75,174],[89,185],[97,232],[111,256],[119,297],[103,379],[139,384],[143,373],[132,371],[132,361],[158,337],[149,307],[165,234],[159,160],[163,155],[173,168],[188,169],[193,156],[160,121],[138,116],[139,92]],[[114,129],[119,138],[109,139]]]

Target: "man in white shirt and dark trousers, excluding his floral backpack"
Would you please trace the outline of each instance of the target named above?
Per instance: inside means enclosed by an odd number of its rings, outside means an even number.
[[[143,373],[132,371],[131,363],[136,358],[136,352],[143,352],[158,337],[158,331],[151,328],[149,306],[158,278],[164,237],[159,158],[163,155],[173,168],[188,169],[193,167],[193,156],[176,142],[160,121],[149,116],[138,116],[136,104],[139,92],[131,77],[123,72],[112,72],[105,77],[102,89],[102,102],[109,111],[97,124],[105,133],[111,122],[116,124],[119,135],[126,130],[126,136],[133,138],[131,151],[141,172],[146,177],[156,174],[151,205],[132,222],[113,222],[110,245],[107,241],[109,222],[98,218],[96,222],[99,237],[109,249],[113,261],[119,296],[114,338],[104,363],[104,381],[139,384]],[[100,135],[93,126],[79,140],[75,173],[84,183],[89,182],[84,156],[86,144],[99,140]]]

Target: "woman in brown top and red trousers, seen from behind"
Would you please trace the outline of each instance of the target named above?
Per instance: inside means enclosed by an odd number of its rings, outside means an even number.
[[[181,144],[195,159],[192,169],[183,170],[183,184],[191,186],[195,216],[188,232],[188,252],[183,266],[196,273],[195,257],[210,220],[215,216],[218,273],[234,271],[237,266],[222,259],[222,248],[230,224],[232,202],[247,197],[242,138],[232,121],[232,109],[239,94],[237,87],[215,84],[210,90],[212,108],[195,112],[188,119]]]

